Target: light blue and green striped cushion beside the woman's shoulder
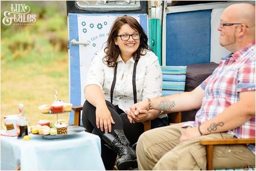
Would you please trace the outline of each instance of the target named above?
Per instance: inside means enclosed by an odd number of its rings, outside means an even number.
[[[161,66],[163,74],[162,96],[185,90],[187,66]]]

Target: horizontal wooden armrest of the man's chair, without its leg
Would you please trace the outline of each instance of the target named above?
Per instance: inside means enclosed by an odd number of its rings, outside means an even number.
[[[255,144],[254,138],[204,139],[201,145]]]

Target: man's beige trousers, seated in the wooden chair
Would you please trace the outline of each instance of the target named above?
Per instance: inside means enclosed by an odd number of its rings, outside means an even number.
[[[152,129],[139,137],[139,170],[206,170],[206,150],[199,140],[233,138],[231,134],[216,133],[180,143],[178,139],[186,130],[181,125]],[[244,145],[217,145],[213,160],[214,169],[255,167],[255,155]]]

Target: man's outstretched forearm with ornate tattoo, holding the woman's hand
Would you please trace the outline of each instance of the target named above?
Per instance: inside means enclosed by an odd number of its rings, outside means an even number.
[[[166,113],[199,109],[204,95],[205,91],[198,86],[191,92],[182,92],[180,94],[153,98],[151,99],[151,105],[153,109],[166,111]],[[148,100],[138,102],[130,109],[135,115],[139,113],[139,110],[149,110]]]

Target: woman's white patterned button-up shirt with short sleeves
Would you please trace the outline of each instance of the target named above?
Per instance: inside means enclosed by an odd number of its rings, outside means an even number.
[[[136,90],[137,101],[162,95],[162,71],[158,58],[151,51],[144,51],[146,55],[141,56],[136,69]],[[143,53],[144,53],[143,52]],[[104,62],[104,50],[95,55],[88,75],[85,79],[85,86],[98,85],[104,92],[106,100],[110,101],[110,89],[114,77],[114,67],[108,67]],[[113,105],[118,105],[122,110],[129,109],[134,104],[132,75],[134,60],[130,58],[126,63],[119,55],[117,67],[117,81],[113,92]],[[162,118],[162,116],[161,116]]]

